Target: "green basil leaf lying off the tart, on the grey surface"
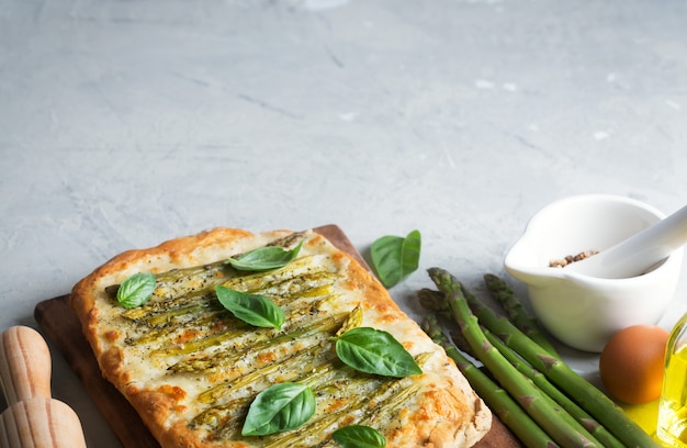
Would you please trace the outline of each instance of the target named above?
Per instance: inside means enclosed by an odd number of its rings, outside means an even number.
[[[417,270],[420,259],[421,236],[419,231],[401,236],[382,236],[372,243],[370,258],[382,284],[391,288]]]

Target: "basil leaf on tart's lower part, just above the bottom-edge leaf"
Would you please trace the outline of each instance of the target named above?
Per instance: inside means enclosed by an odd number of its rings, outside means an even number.
[[[256,396],[241,429],[243,436],[266,436],[295,429],[315,414],[315,394],[305,384],[285,382]]]

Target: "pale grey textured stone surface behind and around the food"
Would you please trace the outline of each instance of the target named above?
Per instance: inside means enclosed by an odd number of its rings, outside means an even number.
[[[686,201],[679,0],[0,0],[0,328],[214,226],[424,236],[478,288],[579,193]],[[518,287],[519,288],[519,287]],[[662,324],[687,307],[683,276]],[[596,358],[571,352],[594,376]],[[55,395],[117,446],[66,362]]]

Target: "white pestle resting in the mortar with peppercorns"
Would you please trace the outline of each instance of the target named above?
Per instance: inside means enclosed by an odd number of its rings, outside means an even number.
[[[565,270],[602,279],[641,276],[687,243],[687,205],[631,237],[575,261]]]

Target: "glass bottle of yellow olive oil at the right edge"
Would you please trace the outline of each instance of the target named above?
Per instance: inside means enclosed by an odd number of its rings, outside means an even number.
[[[667,446],[687,448],[687,314],[666,346],[656,435]]]

